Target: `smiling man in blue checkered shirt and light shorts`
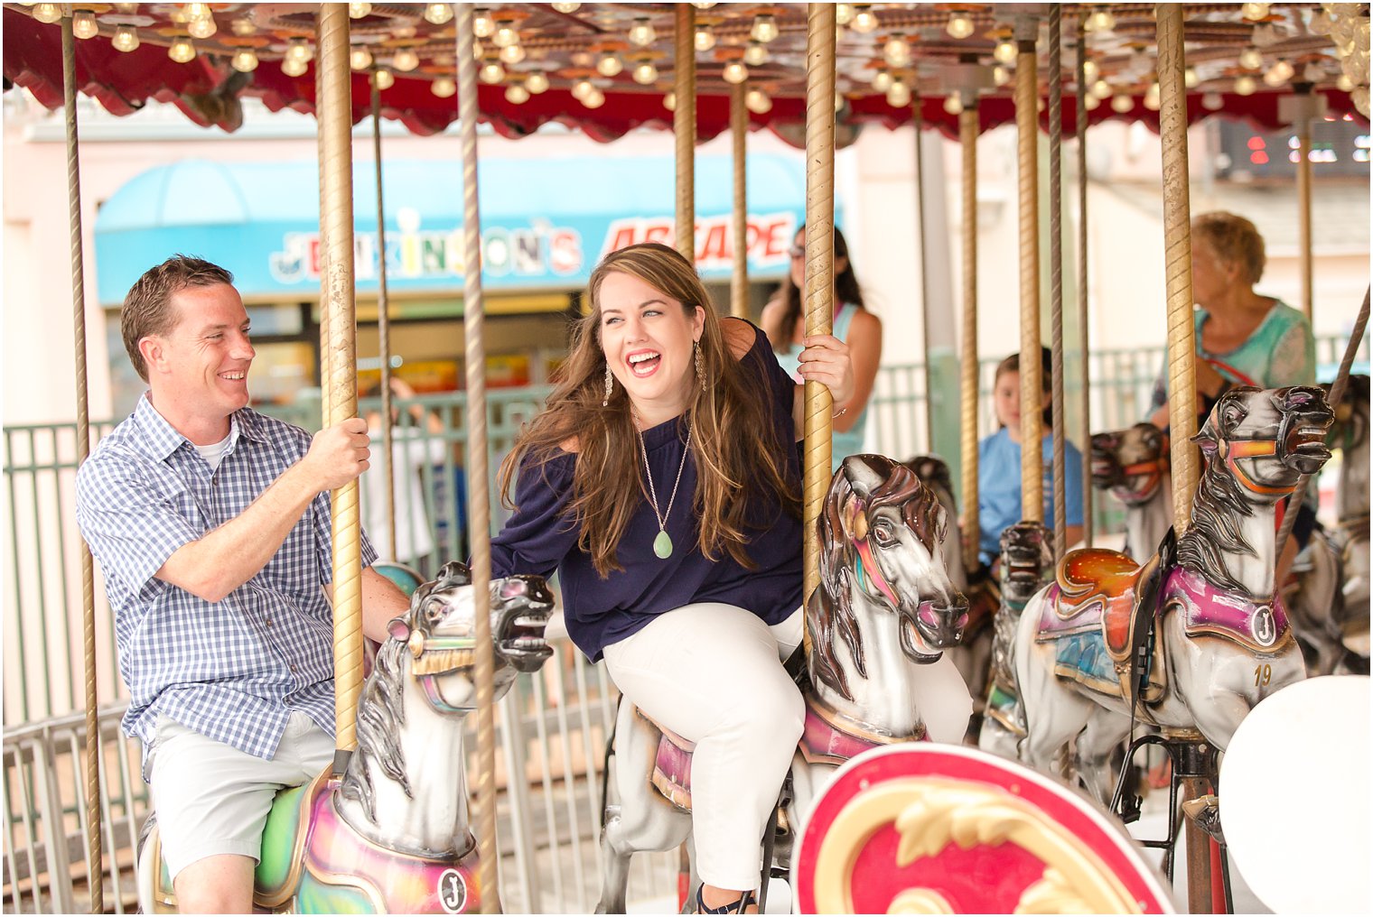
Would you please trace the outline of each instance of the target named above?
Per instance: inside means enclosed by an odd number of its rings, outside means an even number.
[[[177,255],[133,284],[121,329],[150,391],[77,474],[183,913],[251,912],[272,796],[332,761],[330,490],[368,467],[360,417],[312,442],[247,406],[232,281]],[[375,557],[364,537],[362,629],[382,640],[409,603]]]

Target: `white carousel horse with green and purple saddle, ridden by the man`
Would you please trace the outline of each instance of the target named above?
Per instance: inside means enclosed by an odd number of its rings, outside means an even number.
[[[254,903],[292,913],[478,913],[476,840],[468,831],[463,718],[476,707],[475,603],[468,568],[445,564],[390,623],[357,706],[357,750],[276,795],[262,832]],[[553,594],[541,577],[492,581],[494,697],[552,655]],[[144,913],[176,894],[147,833],[139,857]]]

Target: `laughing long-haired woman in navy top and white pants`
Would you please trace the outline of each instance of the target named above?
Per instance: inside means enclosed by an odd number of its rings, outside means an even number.
[[[803,627],[800,387],[667,246],[611,253],[589,297],[548,408],[503,463],[515,513],[492,570],[556,568],[573,641],[696,743],[696,906],[743,913],[803,721],[781,664]],[[800,376],[847,402],[847,346],[805,345]]]

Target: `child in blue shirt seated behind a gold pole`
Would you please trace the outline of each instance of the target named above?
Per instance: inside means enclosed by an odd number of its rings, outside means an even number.
[[[1043,523],[1053,527],[1053,432],[1049,410],[1049,349],[1043,358]],[[1001,430],[978,445],[978,519],[982,538],[978,556],[991,566],[1001,552],[1001,533],[1020,522],[1020,354],[1011,354],[997,367],[993,383],[997,423]],[[1067,491],[1067,544],[1082,539],[1082,453],[1064,443],[1064,489]]]

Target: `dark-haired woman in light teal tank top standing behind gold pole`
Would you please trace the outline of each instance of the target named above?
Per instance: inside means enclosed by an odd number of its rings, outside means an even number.
[[[783,281],[777,295],[763,307],[762,325],[768,332],[777,362],[798,382],[796,367],[800,360],[802,336],[806,329],[806,316],[802,310],[800,291],[806,287],[806,231],[802,229],[791,243],[791,272]],[[854,365],[854,394],[846,404],[835,402],[839,413],[833,421],[833,467],[846,456],[864,450],[864,430],[868,426],[868,398],[872,397],[877,380],[877,362],[881,360],[881,320],[866,310],[858,276],[849,261],[849,243],[844,235],[835,229],[835,314],[833,332],[849,345],[849,356]]]

